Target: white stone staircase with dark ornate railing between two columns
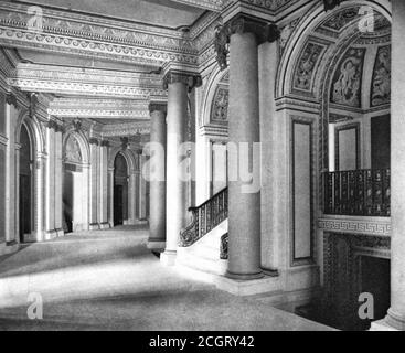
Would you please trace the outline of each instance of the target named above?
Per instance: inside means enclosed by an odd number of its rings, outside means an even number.
[[[180,234],[177,264],[209,275],[223,276],[227,267],[227,189],[198,207]]]

